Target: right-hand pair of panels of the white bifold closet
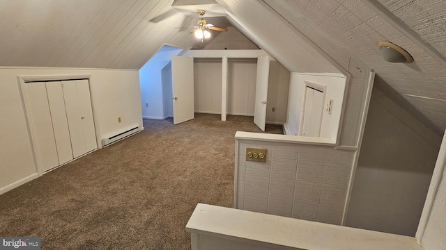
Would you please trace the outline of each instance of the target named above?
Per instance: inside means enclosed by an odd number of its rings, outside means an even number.
[[[77,158],[97,147],[89,81],[62,81],[62,86],[72,154]]]

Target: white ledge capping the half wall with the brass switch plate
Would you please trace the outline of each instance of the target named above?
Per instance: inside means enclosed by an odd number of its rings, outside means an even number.
[[[266,142],[286,142],[295,144],[310,144],[310,145],[323,145],[323,146],[336,146],[336,142],[329,138],[310,138],[305,136],[295,135],[276,135],[268,133],[252,133],[237,131],[236,140],[261,140]]]

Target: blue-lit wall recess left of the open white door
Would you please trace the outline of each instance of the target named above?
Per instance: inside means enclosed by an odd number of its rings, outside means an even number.
[[[171,56],[178,55],[177,47],[164,45],[155,56],[139,69],[141,82],[141,109],[144,118],[164,119],[164,97],[162,92],[161,70],[171,61]]]

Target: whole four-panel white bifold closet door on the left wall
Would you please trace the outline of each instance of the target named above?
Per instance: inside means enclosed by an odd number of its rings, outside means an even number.
[[[26,83],[26,98],[41,172],[97,148],[88,80]]]

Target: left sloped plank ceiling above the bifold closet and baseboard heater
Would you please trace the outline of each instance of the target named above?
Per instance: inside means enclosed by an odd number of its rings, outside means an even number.
[[[201,48],[172,1],[0,1],[0,65],[139,69],[163,44]],[[228,26],[222,17],[210,17]]]

